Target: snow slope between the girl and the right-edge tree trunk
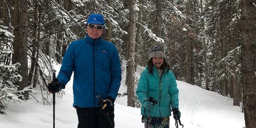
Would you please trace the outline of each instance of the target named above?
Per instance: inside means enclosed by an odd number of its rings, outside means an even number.
[[[189,125],[189,128],[245,126],[244,113],[239,112],[239,106],[233,106],[233,99],[182,81],[177,81],[177,85],[180,90],[181,121],[184,126]],[[230,127],[230,123],[236,127]]]

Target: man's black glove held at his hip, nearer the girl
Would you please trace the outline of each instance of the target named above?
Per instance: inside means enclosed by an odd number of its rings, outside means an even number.
[[[108,96],[107,99],[103,100],[103,102],[104,105],[100,109],[100,112],[105,115],[113,114],[115,100],[112,97]]]

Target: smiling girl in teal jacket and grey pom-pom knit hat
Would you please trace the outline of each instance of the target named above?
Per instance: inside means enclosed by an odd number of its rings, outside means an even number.
[[[142,104],[145,128],[169,128],[171,110],[180,118],[179,90],[160,46],[150,50],[148,66],[140,76],[136,94]]]

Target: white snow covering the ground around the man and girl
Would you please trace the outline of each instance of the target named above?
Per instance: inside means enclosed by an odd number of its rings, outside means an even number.
[[[55,68],[58,74],[60,66]],[[76,109],[72,107],[72,83],[73,79],[64,90],[66,95],[62,98],[56,95],[55,128],[77,127]],[[240,112],[239,106],[233,106],[233,99],[182,81],[177,81],[177,85],[180,90],[180,121],[184,128],[243,128],[245,126],[244,113]],[[40,89],[36,91],[38,94],[34,96],[39,102],[30,96],[31,99],[27,102],[9,103],[5,110],[7,115],[0,115],[0,128],[52,128],[53,106],[43,105],[41,91]],[[116,98],[115,128],[144,128],[140,108],[126,105],[126,96]],[[172,116],[170,128],[175,128],[175,120]]]

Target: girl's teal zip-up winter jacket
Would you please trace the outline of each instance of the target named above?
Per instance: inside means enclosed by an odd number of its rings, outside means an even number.
[[[155,66],[153,66],[153,73],[150,74],[147,67],[140,76],[136,94],[141,103],[148,100],[150,96],[157,100],[157,105],[150,110],[150,116],[171,116],[171,106],[172,109],[179,109],[179,90],[171,70],[165,71],[160,79]],[[144,116],[148,114],[148,110],[143,105],[141,114]]]

